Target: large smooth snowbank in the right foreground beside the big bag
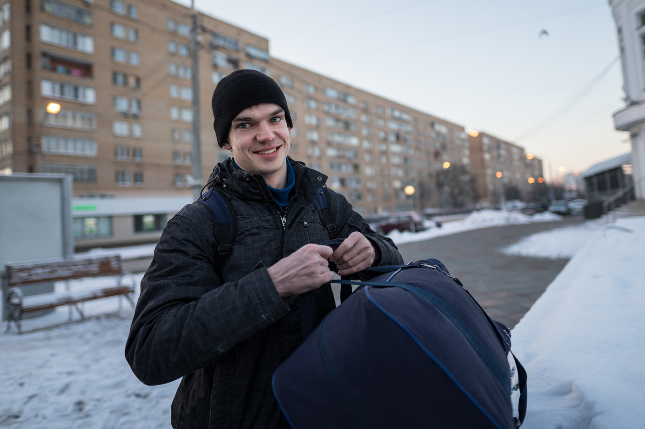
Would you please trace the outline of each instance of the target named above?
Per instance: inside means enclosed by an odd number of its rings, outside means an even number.
[[[522,429],[642,426],[644,249],[643,217],[596,231],[513,329],[529,377]]]

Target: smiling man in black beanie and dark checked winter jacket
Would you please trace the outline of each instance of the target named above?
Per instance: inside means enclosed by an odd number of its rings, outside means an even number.
[[[271,378],[303,341],[299,295],[313,291],[321,320],[335,307],[328,258],[342,276],[402,258],[330,190],[335,228],[323,225],[313,198],[326,177],[287,157],[293,125],[275,81],[233,72],[212,106],[217,142],[233,154],[208,182],[235,212],[230,256],[215,253],[206,205],[177,213],[141,281],[126,359],[148,385],[183,377],[174,428],[285,428]],[[319,244],[333,238],[345,238],[336,251]]]

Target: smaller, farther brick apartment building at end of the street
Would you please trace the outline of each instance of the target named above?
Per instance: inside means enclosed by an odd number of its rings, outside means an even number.
[[[542,160],[524,152],[524,148],[483,132],[468,135],[477,205],[493,206],[506,200],[534,200],[535,188],[544,182]],[[501,178],[497,173],[501,172]]]

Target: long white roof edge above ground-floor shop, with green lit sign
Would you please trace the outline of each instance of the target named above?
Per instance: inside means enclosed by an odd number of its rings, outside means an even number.
[[[115,198],[73,198],[72,216],[177,213],[194,201],[192,196],[121,196]]]

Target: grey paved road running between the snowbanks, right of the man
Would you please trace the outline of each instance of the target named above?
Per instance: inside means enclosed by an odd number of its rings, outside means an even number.
[[[443,262],[491,318],[512,328],[569,260],[509,256],[501,249],[530,234],[582,222],[582,216],[569,216],[562,222],[475,229],[401,244],[399,251],[405,262],[425,258]]]

